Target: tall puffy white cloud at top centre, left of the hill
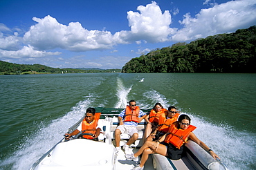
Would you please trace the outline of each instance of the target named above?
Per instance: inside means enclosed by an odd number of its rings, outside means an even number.
[[[140,12],[127,12],[131,30],[122,30],[114,35],[119,43],[142,39],[152,43],[163,42],[175,32],[176,28],[170,28],[172,23],[170,12],[165,10],[162,13],[156,2],[152,1],[147,6],[138,6],[137,10]]]

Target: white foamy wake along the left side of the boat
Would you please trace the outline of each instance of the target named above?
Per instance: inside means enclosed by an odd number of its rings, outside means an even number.
[[[39,130],[28,136],[19,151],[11,155],[10,158],[3,160],[1,167],[5,167],[5,169],[30,169],[36,160],[63,138],[69,127],[80,120],[92,102],[91,99],[79,102],[77,106],[72,108],[72,111],[64,117],[53,120],[48,126],[44,126],[44,122],[37,124]]]

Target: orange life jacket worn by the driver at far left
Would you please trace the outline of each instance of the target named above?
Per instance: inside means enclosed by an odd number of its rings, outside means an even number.
[[[82,120],[82,133],[91,133],[95,135],[96,127],[98,126],[98,120],[100,119],[101,113],[95,113],[94,120],[91,123],[86,122],[85,118]],[[93,139],[91,135],[83,135],[83,138]]]

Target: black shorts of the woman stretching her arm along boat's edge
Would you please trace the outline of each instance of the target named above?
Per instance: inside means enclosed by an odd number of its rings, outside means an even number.
[[[173,144],[167,144],[165,142],[162,142],[161,144],[167,147],[167,157],[170,158],[171,160],[179,160],[183,156],[184,144],[181,146],[181,149],[174,147]]]

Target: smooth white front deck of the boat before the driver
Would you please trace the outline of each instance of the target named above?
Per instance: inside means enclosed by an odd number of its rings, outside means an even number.
[[[60,142],[36,169],[113,169],[113,153],[113,145],[104,142],[86,139]]]

